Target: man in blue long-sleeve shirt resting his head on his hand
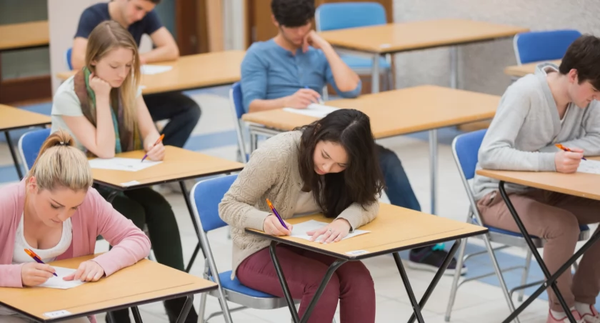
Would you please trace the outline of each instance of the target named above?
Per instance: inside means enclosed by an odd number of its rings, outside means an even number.
[[[359,96],[359,76],[311,29],[314,1],[272,0],[271,11],[279,33],[269,41],[252,44],[241,64],[241,91],[247,112],[283,107],[305,109],[319,101],[326,84],[344,98]],[[394,151],[378,148],[391,204],[420,211],[400,159]],[[409,267],[436,271],[446,254],[442,246],[413,249]],[[454,270],[453,259],[446,274],[454,274]],[[465,273],[466,267],[461,272]]]

